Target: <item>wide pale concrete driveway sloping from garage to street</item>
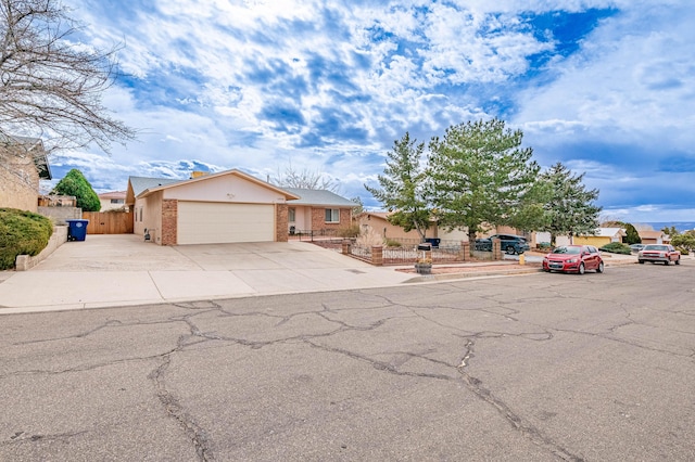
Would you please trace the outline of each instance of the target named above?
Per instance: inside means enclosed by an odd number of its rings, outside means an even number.
[[[169,247],[89,235],[4,279],[0,313],[367,288],[412,277],[305,242]]]

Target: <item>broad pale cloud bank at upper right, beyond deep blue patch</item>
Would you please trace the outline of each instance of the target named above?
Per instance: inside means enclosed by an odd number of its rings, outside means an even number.
[[[695,13],[629,8],[604,21],[579,54],[557,64],[556,81],[521,93],[515,123],[533,129],[563,120],[565,137],[556,131],[555,140],[571,139],[582,128],[604,141],[648,145],[661,143],[666,130],[679,133],[669,143],[692,149],[695,114],[687,102],[695,98]]]

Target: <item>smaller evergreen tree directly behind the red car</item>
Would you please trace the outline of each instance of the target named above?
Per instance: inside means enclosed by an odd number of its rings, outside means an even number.
[[[593,204],[598,190],[586,190],[584,174],[573,176],[571,170],[557,163],[542,172],[540,180],[546,182],[549,196],[545,204],[545,226],[539,231],[551,233],[551,244],[558,235],[593,234],[598,228],[602,207]]]

